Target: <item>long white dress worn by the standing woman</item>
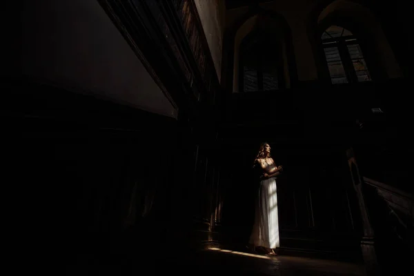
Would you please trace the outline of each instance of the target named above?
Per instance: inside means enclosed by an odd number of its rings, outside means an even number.
[[[275,168],[275,164],[268,165],[268,168]],[[280,242],[275,177],[260,181],[256,197],[255,224],[250,235],[250,244],[277,248]]]

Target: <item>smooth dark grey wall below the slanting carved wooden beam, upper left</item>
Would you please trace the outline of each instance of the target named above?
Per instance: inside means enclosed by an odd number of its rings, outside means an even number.
[[[177,118],[98,1],[24,1],[21,27],[23,75]]]

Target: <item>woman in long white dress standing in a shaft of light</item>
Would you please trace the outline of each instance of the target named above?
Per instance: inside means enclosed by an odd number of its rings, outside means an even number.
[[[276,177],[283,171],[283,167],[276,166],[270,157],[270,146],[267,143],[260,146],[254,167],[260,170],[261,176],[250,244],[253,244],[253,250],[262,247],[268,255],[276,255],[274,249],[280,246]]]

